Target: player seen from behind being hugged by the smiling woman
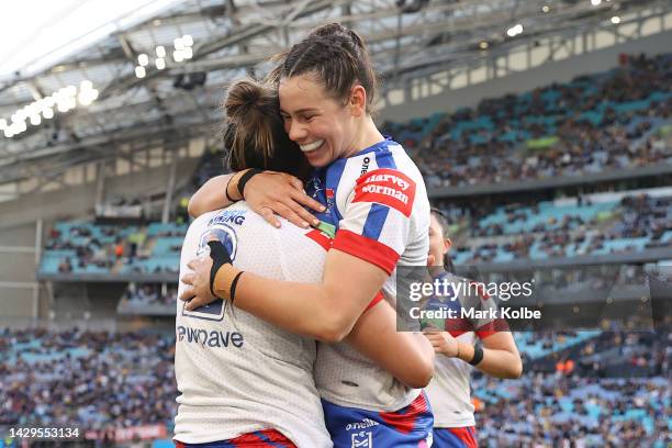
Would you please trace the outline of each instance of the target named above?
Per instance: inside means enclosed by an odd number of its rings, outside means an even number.
[[[305,175],[305,158],[282,128],[275,89],[254,80],[238,81],[228,91],[225,111],[231,168]],[[321,280],[329,246],[328,236],[317,229],[289,223],[269,227],[240,201],[203,214],[190,225],[180,276],[189,272],[190,258],[219,250],[215,242],[236,266],[250,272],[309,283]],[[180,293],[184,287],[180,283]],[[280,329],[223,300],[195,309],[179,302],[176,328],[176,377],[181,392],[175,428],[178,446],[332,445],[313,380],[316,347],[312,338]],[[394,311],[388,303],[366,311],[346,341],[402,382],[428,382],[430,373],[423,371],[422,361],[430,358],[430,347],[422,335],[394,332]],[[393,354],[390,347],[401,352]]]

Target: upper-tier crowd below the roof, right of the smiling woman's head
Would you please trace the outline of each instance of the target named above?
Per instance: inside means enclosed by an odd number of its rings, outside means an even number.
[[[444,120],[384,127],[429,187],[524,181],[672,163],[652,131],[670,120],[672,55],[483,100]]]

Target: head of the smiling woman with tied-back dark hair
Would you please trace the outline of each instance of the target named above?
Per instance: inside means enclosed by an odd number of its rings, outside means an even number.
[[[313,167],[383,139],[371,117],[376,83],[361,38],[340,25],[325,25],[292,47],[278,89],[281,114]]]

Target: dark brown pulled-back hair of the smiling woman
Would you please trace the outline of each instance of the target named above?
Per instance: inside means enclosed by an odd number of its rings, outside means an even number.
[[[347,103],[350,91],[360,83],[367,92],[367,112],[373,112],[378,79],[367,47],[355,31],[329,23],[311,32],[292,46],[279,67],[282,78],[314,74],[337,101]],[[278,74],[275,74],[276,78]]]

